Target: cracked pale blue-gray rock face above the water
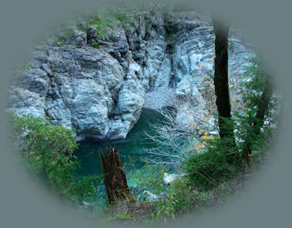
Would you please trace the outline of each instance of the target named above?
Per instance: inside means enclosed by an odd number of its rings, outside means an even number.
[[[96,27],[85,27],[87,32],[74,30],[63,45],[32,49],[29,67],[14,72],[6,109],[48,115],[52,124],[76,128],[78,140],[125,138],[143,107],[159,109],[175,96],[194,96],[202,104],[194,112],[203,113],[203,76],[214,74],[214,31],[207,16],[181,12],[166,21],[156,10],[102,37]],[[229,71],[236,75],[254,52],[236,30],[229,41]]]

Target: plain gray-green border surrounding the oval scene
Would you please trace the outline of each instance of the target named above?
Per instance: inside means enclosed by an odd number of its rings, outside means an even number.
[[[117,1],[115,1],[117,2]],[[93,0],[1,0],[0,71],[1,102],[5,106],[5,89],[10,70],[27,52],[34,38],[65,21],[70,15],[99,8],[114,1]],[[118,2],[122,2],[118,1]],[[181,4],[214,8],[233,20],[234,25],[249,32],[258,48],[269,60],[275,79],[280,83],[287,113],[283,130],[275,142],[274,157],[260,173],[256,183],[237,201],[201,216],[195,222],[183,221],[174,226],[195,227],[290,227],[291,226],[291,3],[289,1],[183,1]],[[1,116],[0,226],[1,227],[100,227],[98,222],[74,214],[62,207],[30,176],[5,144],[5,113]],[[188,223],[187,223],[188,222]]]

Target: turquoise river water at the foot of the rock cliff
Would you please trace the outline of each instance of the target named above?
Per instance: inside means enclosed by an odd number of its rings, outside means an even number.
[[[155,143],[146,139],[144,132],[153,133],[150,124],[155,124],[165,120],[162,115],[157,111],[151,111],[144,109],[139,117],[137,124],[133,127],[130,133],[128,133],[126,139],[120,139],[115,141],[106,140],[85,140],[81,141],[78,146],[78,150],[75,155],[80,159],[82,168],[78,170],[78,175],[87,176],[89,174],[96,176],[102,174],[100,166],[99,150],[104,148],[116,147],[120,153],[120,157],[123,166],[126,171],[127,183],[130,188],[136,187],[137,181],[135,176],[139,174],[139,171],[144,169],[145,162],[143,159],[146,158],[147,153],[145,148],[155,147]],[[106,198],[104,192],[104,185],[100,181],[98,187],[100,199]]]

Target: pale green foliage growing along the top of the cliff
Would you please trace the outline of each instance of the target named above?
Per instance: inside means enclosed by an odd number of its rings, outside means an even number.
[[[98,40],[111,36],[113,30],[119,27],[124,27],[124,29],[128,30],[129,27],[137,25],[137,21],[147,19],[155,8],[159,8],[157,3],[123,3],[91,11],[86,16],[82,16],[82,18],[72,19],[70,23],[60,26],[58,31],[55,32],[55,46],[67,44],[67,38],[74,34],[75,31],[88,32],[90,27],[96,28],[97,37],[93,38],[92,41],[90,39],[89,43],[97,43]],[[148,24],[145,23],[145,27],[147,26]],[[137,26],[135,28],[137,32],[140,30]],[[97,46],[95,45],[95,47]]]

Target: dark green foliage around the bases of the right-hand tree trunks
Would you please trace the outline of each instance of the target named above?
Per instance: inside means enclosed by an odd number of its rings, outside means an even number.
[[[238,172],[242,172],[243,175],[249,166],[261,162],[267,155],[264,150],[274,135],[279,108],[270,104],[265,116],[265,124],[258,132],[254,123],[259,121],[256,119],[256,113],[267,80],[267,69],[262,68],[262,65],[260,57],[251,59],[251,65],[246,67],[242,76],[244,77],[242,78],[243,83],[238,85],[243,94],[243,104],[241,104],[243,108],[240,111],[234,111],[234,119],[226,119],[226,122],[230,123],[227,124],[227,127],[228,125],[234,126],[236,145],[230,148],[231,143],[228,139],[208,140],[206,152],[192,155],[184,163],[192,185],[210,189],[218,183],[232,179]],[[274,116],[271,117],[269,113],[273,113]],[[247,146],[251,150],[248,154],[248,160],[251,162],[248,164],[246,163],[247,159],[243,159],[247,152]],[[230,150],[232,151],[231,155],[226,153]]]

